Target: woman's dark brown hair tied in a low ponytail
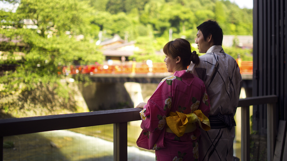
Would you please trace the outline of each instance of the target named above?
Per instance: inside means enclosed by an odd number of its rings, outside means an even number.
[[[182,65],[187,67],[190,65],[190,62],[197,66],[200,62],[196,51],[191,52],[190,43],[186,39],[175,39],[174,41],[170,41],[164,45],[163,48],[164,54],[169,57],[175,58],[180,57],[182,61]]]

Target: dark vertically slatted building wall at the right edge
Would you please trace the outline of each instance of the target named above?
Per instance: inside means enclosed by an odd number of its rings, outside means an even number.
[[[254,0],[253,96],[276,94],[279,97],[277,125],[287,116],[286,33],[286,0]],[[266,106],[254,106],[253,130],[266,134]]]

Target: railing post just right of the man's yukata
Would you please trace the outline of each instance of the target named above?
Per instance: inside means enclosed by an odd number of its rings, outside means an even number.
[[[241,107],[241,160],[250,161],[249,106]]]

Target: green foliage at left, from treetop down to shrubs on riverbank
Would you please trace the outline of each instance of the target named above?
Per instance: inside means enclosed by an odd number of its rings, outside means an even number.
[[[33,105],[42,111],[77,110],[62,67],[103,60],[90,42],[86,4],[22,0],[16,13],[0,11],[0,64],[16,66],[15,71],[0,71],[0,110],[9,106],[21,111]],[[28,27],[25,19],[37,27]]]

